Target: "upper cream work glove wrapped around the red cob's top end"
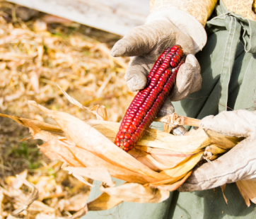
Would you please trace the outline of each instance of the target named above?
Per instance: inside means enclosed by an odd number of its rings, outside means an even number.
[[[170,101],[183,100],[201,88],[200,66],[194,53],[206,43],[206,32],[199,21],[189,13],[177,8],[156,10],[146,23],[131,30],[112,47],[113,57],[132,57],[125,73],[130,90],[146,86],[146,76],[159,55],[173,45],[181,45],[187,55],[180,67],[170,98],[164,105],[161,116],[173,112]]]

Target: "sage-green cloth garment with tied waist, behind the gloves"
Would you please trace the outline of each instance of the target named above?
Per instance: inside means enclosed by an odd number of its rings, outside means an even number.
[[[226,109],[255,110],[256,23],[228,12],[222,2],[212,17],[206,24],[206,46],[196,55],[202,68],[202,88],[173,103],[180,115],[202,119]],[[94,184],[89,201],[100,195],[100,182]],[[228,205],[220,188],[216,192],[173,191],[162,203],[124,202],[109,211],[88,212],[83,219],[256,218],[255,204],[248,208],[235,184],[228,184],[225,194]]]

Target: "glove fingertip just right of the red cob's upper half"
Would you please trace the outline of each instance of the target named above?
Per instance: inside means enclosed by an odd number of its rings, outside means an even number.
[[[170,92],[170,100],[183,100],[190,93],[199,90],[201,85],[202,76],[199,63],[193,54],[188,54],[185,64],[182,64],[178,71],[175,85]]]

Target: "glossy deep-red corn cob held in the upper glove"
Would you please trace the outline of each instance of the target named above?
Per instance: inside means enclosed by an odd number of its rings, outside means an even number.
[[[178,69],[184,62],[185,55],[180,45],[168,47],[158,57],[147,77],[146,88],[136,94],[124,115],[115,138],[117,146],[125,151],[136,146],[163,107],[166,97],[173,88]]]

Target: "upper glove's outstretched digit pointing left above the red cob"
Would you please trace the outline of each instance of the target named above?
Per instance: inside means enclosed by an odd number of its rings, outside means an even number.
[[[135,57],[157,50],[154,53],[158,57],[168,45],[175,44],[175,36],[171,29],[170,22],[163,20],[136,27],[115,43],[111,49],[111,55]]]

